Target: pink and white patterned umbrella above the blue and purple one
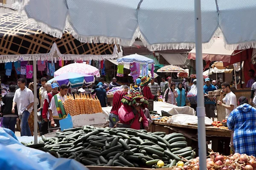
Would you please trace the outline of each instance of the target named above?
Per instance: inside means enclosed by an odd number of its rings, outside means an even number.
[[[78,73],[78,74],[88,74],[88,75],[100,77],[98,68],[88,64],[84,64],[84,63],[73,63],[73,64],[65,65],[64,67],[61,67],[60,69],[54,72],[54,77],[59,76],[61,74],[69,73],[69,72]]]

